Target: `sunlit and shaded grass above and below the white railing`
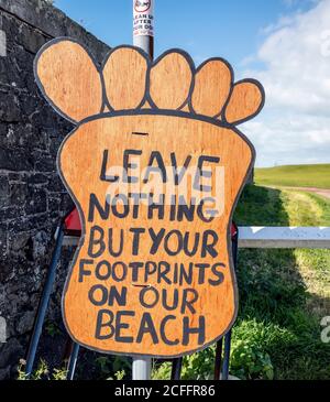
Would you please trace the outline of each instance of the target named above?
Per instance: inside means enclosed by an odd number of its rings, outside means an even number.
[[[330,202],[298,191],[248,186],[239,225],[330,226]],[[240,250],[240,313],[231,373],[242,379],[329,380],[330,345],[320,322],[330,315],[330,251]],[[215,347],[185,357],[183,379],[211,379]],[[170,365],[154,369],[168,379]]]

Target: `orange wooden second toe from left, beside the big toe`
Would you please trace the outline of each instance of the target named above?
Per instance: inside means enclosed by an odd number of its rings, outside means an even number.
[[[114,110],[135,109],[144,98],[147,63],[134,48],[110,54],[105,68],[108,100]]]

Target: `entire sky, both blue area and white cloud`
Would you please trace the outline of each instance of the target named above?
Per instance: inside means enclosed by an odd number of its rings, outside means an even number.
[[[108,45],[132,44],[132,0],[55,0]],[[240,126],[256,166],[330,163],[330,0],[155,0],[155,55],[227,58],[266,104]]]

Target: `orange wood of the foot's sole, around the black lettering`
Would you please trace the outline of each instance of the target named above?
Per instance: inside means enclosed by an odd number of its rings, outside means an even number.
[[[147,137],[132,135],[132,132],[141,131],[148,133]],[[179,135],[178,135],[179,133]],[[90,138],[94,141],[90,141]],[[123,152],[125,149],[142,150],[141,165],[147,164],[151,151],[158,151],[165,161],[166,165],[170,164],[169,154],[175,152],[178,161],[185,161],[188,154],[193,155],[193,165],[196,166],[198,155],[218,155],[221,159],[220,165],[224,169],[224,210],[223,214],[215,219],[211,224],[205,224],[199,219],[193,222],[169,221],[169,219],[150,220],[147,218],[147,208],[142,207],[142,213],[139,219],[131,217],[125,219],[110,218],[102,220],[99,217],[92,222],[106,230],[113,228],[118,233],[120,229],[125,233],[125,247],[123,254],[119,258],[112,258],[107,252],[99,259],[94,259],[91,270],[100,260],[106,259],[113,263],[118,260],[130,263],[132,261],[168,261],[174,264],[180,262],[188,264],[189,262],[202,262],[213,264],[221,262],[224,264],[223,275],[224,281],[218,286],[210,286],[208,283],[198,284],[198,272],[194,273],[194,282],[191,285],[177,286],[173,284],[158,284],[155,278],[151,278],[146,284],[154,286],[158,291],[166,290],[169,298],[173,297],[174,289],[194,287],[198,291],[199,300],[196,303],[196,313],[185,312],[180,314],[178,309],[175,312],[166,311],[162,305],[150,309],[153,322],[160,330],[162,319],[168,314],[174,314],[175,319],[168,323],[166,328],[167,337],[172,340],[180,339],[176,346],[167,346],[160,341],[154,344],[150,336],[145,336],[142,344],[117,343],[113,339],[96,339],[95,327],[97,314],[100,307],[94,307],[88,301],[88,291],[99,282],[95,275],[86,276],[82,283],[79,283],[79,261],[81,259],[90,259],[88,256],[88,243],[91,224],[86,220],[89,208],[89,195],[94,193],[99,199],[105,199],[105,194],[109,183],[100,181],[100,166],[102,163],[103,150],[109,150],[111,155],[111,165],[122,165]],[[72,163],[72,161],[75,163]],[[98,350],[116,351],[122,354],[146,354],[151,356],[178,356],[202,347],[198,344],[197,336],[191,336],[189,345],[182,345],[183,339],[183,316],[189,317],[191,326],[198,325],[200,315],[206,317],[207,328],[204,345],[213,341],[223,332],[228,330],[234,319],[237,300],[235,300],[235,283],[234,274],[230,268],[229,245],[227,241],[228,227],[230,225],[230,215],[233,208],[233,203],[238,192],[244,181],[248,167],[252,160],[252,152],[246,142],[235,132],[209,124],[204,121],[194,119],[169,117],[169,116],[124,116],[116,118],[103,118],[88,122],[80,127],[78,131],[72,134],[65,142],[61,153],[61,171],[67,183],[68,189],[77,198],[80,206],[81,218],[85,222],[85,238],[74,264],[70,278],[67,282],[66,293],[64,295],[64,316],[72,336],[82,345],[87,345]],[[88,166],[88,169],[87,169]],[[213,183],[215,185],[215,183]],[[168,214],[166,207],[165,216]],[[169,257],[162,250],[156,256],[151,256],[151,240],[147,236],[143,238],[143,247],[140,250],[139,257],[132,256],[132,233],[131,228],[153,228],[155,231],[165,228],[166,230],[177,229],[180,232],[189,232],[194,236],[197,232],[205,230],[216,230],[219,233],[219,243],[217,246],[218,257],[216,259],[208,256],[200,258],[196,256],[188,258],[180,253],[177,257]],[[118,236],[117,236],[118,241]],[[118,246],[118,242],[117,242]],[[207,280],[212,275],[207,272]],[[143,282],[143,275],[141,283]],[[125,322],[129,328],[123,330],[125,336],[136,338],[139,326],[142,319],[142,314],[147,309],[141,307],[139,303],[140,287],[135,287],[132,281],[116,283],[113,280],[105,281],[103,284],[109,287],[116,284],[118,289],[128,286],[129,298],[125,311],[135,312],[134,317],[129,317]],[[182,293],[182,291],[180,291]],[[182,294],[180,294],[182,297]],[[109,307],[112,312],[123,309],[119,306]]]

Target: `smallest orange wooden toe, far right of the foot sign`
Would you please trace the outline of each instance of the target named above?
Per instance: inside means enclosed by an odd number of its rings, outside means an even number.
[[[235,84],[226,109],[226,120],[235,124],[239,121],[255,116],[263,102],[263,94],[260,86],[253,82]]]

